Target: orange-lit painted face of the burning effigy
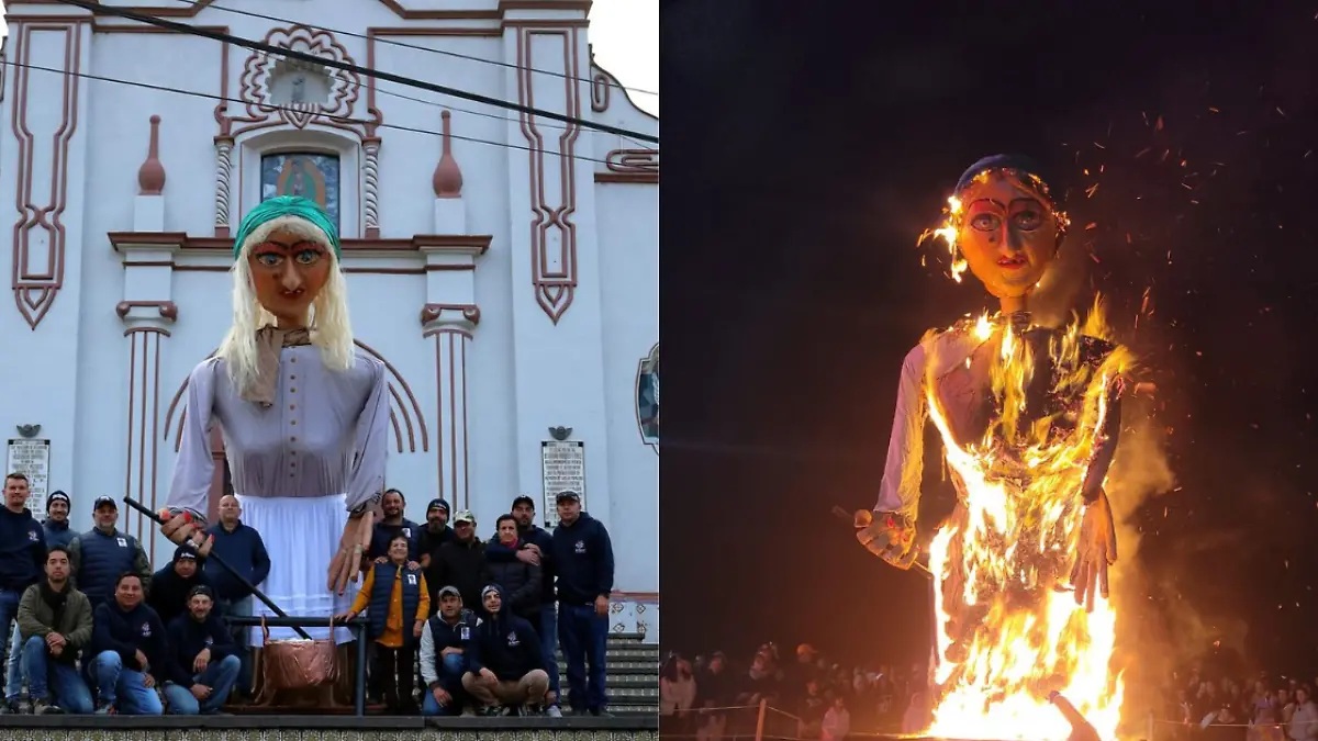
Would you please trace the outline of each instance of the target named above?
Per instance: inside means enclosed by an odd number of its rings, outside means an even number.
[[[996,298],[1033,290],[1057,254],[1050,206],[1012,175],[995,171],[961,194],[957,245],[970,272]]]

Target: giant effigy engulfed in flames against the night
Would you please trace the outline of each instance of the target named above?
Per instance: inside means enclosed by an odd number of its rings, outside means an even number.
[[[999,311],[932,331],[907,355],[878,504],[855,516],[861,543],[899,568],[923,566],[928,551],[933,736],[1068,738],[1068,717],[1049,703],[1061,692],[1115,738],[1116,535],[1103,481],[1131,355],[1110,340],[1098,302],[1068,326],[1032,319],[1066,225],[1027,158],[987,157],[957,182],[934,233],[950,247],[952,276],[969,269]],[[957,504],[921,548],[929,422]]]

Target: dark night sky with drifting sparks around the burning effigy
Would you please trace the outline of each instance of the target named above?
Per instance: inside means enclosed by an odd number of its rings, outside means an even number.
[[[1132,609],[1186,651],[1313,676],[1315,13],[663,3],[666,647],[928,655],[924,581],[829,510],[875,501],[907,349],[990,306],[916,236],[970,162],[1025,152],[1160,386],[1127,422],[1164,431],[1178,488],[1131,516]]]

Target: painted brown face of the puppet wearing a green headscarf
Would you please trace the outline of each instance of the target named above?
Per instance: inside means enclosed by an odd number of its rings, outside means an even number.
[[[256,298],[281,326],[303,327],[311,303],[320,295],[333,256],[318,243],[289,232],[274,232],[248,254]]]

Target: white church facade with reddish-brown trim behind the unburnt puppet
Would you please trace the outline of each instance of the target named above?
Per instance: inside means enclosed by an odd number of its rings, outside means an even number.
[[[658,136],[593,63],[588,0],[146,1],[133,9]],[[613,534],[613,629],[658,638],[656,144],[5,5],[0,426],[34,510],[63,489],[82,530],[98,496],[163,504],[185,382],[231,322],[231,233],[264,198],[301,194],[337,220],[355,335],[389,369],[387,485],[407,516],[444,497],[484,538],[513,497],[546,519],[580,488]]]

